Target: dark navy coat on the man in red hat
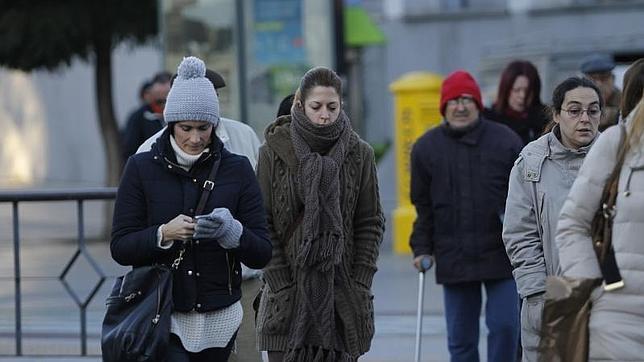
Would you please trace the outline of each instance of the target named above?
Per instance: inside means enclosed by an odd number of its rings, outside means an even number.
[[[410,244],[415,256],[435,256],[438,283],[512,277],[501,229],[521,147],[510,128],[483,118],[464,134],[443,123],[414,144]]]

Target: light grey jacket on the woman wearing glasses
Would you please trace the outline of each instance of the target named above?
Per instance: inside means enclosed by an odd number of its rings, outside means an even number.
[[[544,292],[546,276],[560,274],[559,211],[592,146],[566,148],[559,132],[555,126],[526,145],[510,173],[503,242],[522,298]]]

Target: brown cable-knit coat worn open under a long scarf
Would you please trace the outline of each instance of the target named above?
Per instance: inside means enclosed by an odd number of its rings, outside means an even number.
[[[257,166],[273,242],[273,258],[264,269],[266,285],[257,315],[258,347],[268,351],[287,349],[297,310],[294,275],[297,243],[293,239],[300,238],[302,232],[295,228],[291,240],[283,240],[303,207],[296,191],[297,159],[290,122],[291,117],[284,116],[269,125]],[[369,350],[374,333],[370,289],[377,269],[384,217],[373,150],[355,133],[340,170],[340,185],[346,244],[339,269],[346,278],[335,278],[335,319],[339,321],[335,328],[336,335],[342,337],[343,349],[357,358]]]

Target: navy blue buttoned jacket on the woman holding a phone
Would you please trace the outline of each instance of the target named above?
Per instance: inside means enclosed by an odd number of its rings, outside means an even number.
[[[216,158],[221,157],[215,186],[203,213],[228,208],[243,225],[240,246],[225,250],[214,239],[193,240],[179,270],[174,273],[174,309],[206,312],[231,305],[241,296],[241,266],[261,269],[270,260],[262,196],[248,159],[223,148],[214,136],[205,153],[186,172],[176,165],[169,132],[149,152],[127,162],[114,206],[112,257],[122,265],[169,263],[178,255],[180,242],[170,250],[157,246],[157,229],[179,214],[195,215],[206,180]]]

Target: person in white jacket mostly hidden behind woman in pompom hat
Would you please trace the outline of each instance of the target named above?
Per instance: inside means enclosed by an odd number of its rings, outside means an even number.
[[[224,78],[214,70],[206,69],[206,78],[213,84],[215,92],[217,92],[217,89],[226,86]],[[172,78],[173,82],[174,79],[175,77]],[[219,95],[218,92],[217,95]],[[147,139],[139,147],[137,153],[148,151],[163,132],[165,132],[165,128]],[[253,169],[256,168],[260,142],[257,134],[250,126],[233,119],[220,117],[219,124],[215,128],[215,134],[228,151],[245,156],[250,161]],[[237,332],[235,348],[230,355],[230,361],[251,362],[262,360],[255,343],[255,313],[253,311],[253,300],[262,284],[259,280],[260,276],[261,271],[250,269],[242,263],[241,303],[244,318]]]

